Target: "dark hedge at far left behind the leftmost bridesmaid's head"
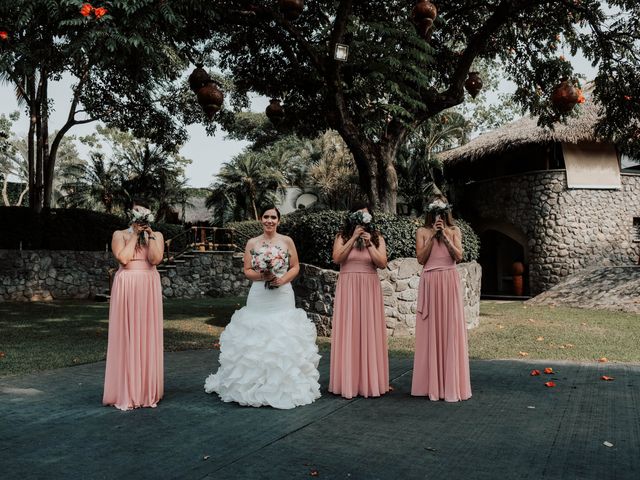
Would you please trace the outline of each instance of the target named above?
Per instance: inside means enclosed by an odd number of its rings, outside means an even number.
[[[0,207],[0,248],[18,249],[22,242],[25,250],[104,251],[111,248],[113,232],[127,228],[127,224],[116,215],[91,210],[55,208],[38,214],[25,207]],[[179,225],[159,223],[152,227],[165,239],[183,231]],[[172,246],[172,250],[176,248]]]

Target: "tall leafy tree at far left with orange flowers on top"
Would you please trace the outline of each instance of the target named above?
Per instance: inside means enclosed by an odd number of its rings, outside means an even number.
[[[186,139],[164,106],[182,80],[189,48],[176,43],[200,2],[1,0],[0,80],[11,82],[29,122],[29,204],[49,207],[56,159],[67,132],[102,120],[165,148]],[[71,78],[66,121],[49,140],[51,83]]]

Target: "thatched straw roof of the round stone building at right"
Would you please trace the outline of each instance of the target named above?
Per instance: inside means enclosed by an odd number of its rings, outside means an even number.
[[[590,89],[589,89],[590,90]],[[584,93],[586,101],[576,107],[577,116],[567,123],[557,123],[554,129],[539,127],[538,117],[525,116],[471,140],[469,143],[438,154],[444,163],[475,161],[481,157],[528,145],[552,142],[578,143],[594,141],[594,127],[600,106],[593,102],[590,91]]]

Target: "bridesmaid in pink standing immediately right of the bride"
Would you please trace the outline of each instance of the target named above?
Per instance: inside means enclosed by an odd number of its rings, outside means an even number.
[[[368,231],[369,209],[359,207],[351,210],[333,244],[340,276],[333,307],[329,391],[345,398],[379,397],[389,391],[387,326],[376,270],[387,266],[387,250],[382,235]]]

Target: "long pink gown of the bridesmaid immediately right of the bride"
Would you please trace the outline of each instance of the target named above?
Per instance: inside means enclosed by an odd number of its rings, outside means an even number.
[[[378,272],[368,250],[340,266],[331,331],[329,391],[345,398],[389,391],[387,326]]]

